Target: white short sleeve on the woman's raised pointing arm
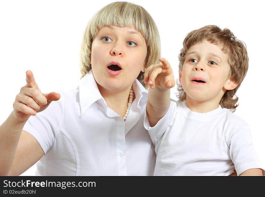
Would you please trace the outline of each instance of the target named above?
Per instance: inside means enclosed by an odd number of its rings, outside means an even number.
[[[58,91],[56,91],[58,92]],[[58,92],[61,94],[60,92]],[[57,132],[63,122],[63,95],[36,116],[30,116],[23,130],[30,133],[41,145],[44,154],[52,146]]]

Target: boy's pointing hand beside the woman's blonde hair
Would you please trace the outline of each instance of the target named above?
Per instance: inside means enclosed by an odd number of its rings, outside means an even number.
[[[165,58],[159,58],[159,61],[162,64],[153,64],[145,70],[145,84],[150,88],[173,88],[175,79],[169,62]]]

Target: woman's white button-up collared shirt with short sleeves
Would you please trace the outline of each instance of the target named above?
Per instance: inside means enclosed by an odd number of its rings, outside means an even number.
[[[23,130],[45,155],[36,175],[153,175],[154,145],[143,127],[148,91],[136,80],[126,121],[108,108],[92,72],[76,89],[31,116]]]

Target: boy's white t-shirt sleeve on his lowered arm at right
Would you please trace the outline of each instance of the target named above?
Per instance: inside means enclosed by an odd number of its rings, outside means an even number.
[[[262,169],[264,175],[263,166],[254,149],[248,125],[236,129],[227,144],[230,148],[230,157],[235,164],[235,170],[238,175],[253,168]]]

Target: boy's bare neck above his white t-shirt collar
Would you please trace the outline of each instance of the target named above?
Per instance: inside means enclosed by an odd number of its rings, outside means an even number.
[[[220,100],[207,100],[198,101],[190,98],[188,95],[186,97],[186,105],[192,112],[206,113],[213,111],[219,107]]]

